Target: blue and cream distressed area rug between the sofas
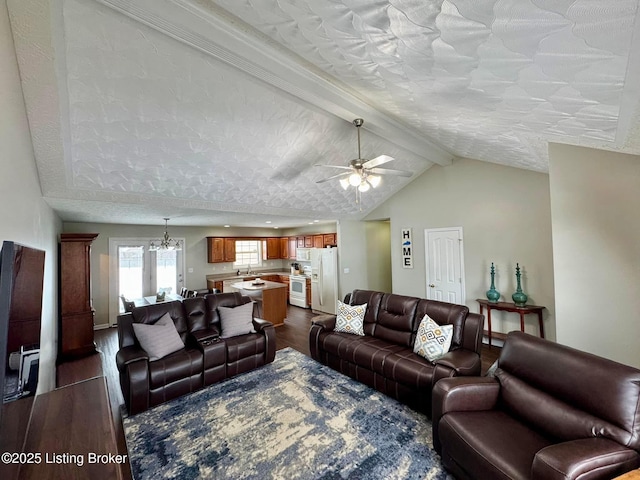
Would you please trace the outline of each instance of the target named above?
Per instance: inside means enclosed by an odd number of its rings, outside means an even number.
[[[452,478],[426,416],[290,348],[123,423],[136,480]]]

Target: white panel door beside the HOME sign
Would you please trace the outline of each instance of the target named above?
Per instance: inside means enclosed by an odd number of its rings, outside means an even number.
[[[462,227],[426,229],[427,298],[465,302]]]

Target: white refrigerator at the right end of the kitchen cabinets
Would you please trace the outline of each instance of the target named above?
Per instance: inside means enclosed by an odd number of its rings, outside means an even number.
[[[311,249],[311,309],[335,315],[338,303],[338,249]]]

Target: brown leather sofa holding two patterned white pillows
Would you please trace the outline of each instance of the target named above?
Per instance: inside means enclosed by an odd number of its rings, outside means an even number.
[[[334,332],[335,315],[315,317],[309,347],[319,362],[428,415],[439,379],[480,374],[484,317],[466,306],[371,290],[354,290],[345,303],[367,304],[365,335]],[[433,364],[413,353],[425,314],[440,325],[453,325],[449,353]]]

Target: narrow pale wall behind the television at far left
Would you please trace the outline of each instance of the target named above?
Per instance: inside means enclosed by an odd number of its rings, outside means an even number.
[[[0,169],[0,240],[46,252],[38,391],[48,391],[55,387],[57,237],[62,223],[42,200],[6,0],[0,3]]]

